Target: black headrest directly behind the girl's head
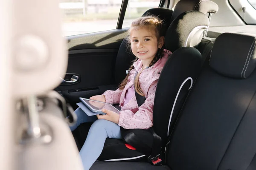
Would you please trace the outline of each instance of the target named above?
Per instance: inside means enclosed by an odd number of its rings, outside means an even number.
[[[148,15],[154,15],[157,16],[160,20],[163,20],[163,36],[166,33],[167,28],[171,24],[171,17],[172,17],[173,11],[166,8],[151,8],[145,11],[145,13],[142,16],[148,16]]]

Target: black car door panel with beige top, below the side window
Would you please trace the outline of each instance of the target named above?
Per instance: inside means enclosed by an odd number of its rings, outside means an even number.
[[[66,74],[79,76],[79,82],[55,88],[73,108],[79,97],[89,98],[115,90],[116,55],[127,29],[68,37],[69,57]]]

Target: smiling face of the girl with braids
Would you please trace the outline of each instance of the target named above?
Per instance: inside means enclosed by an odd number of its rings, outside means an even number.
[[[157,54],[158,48],[163,45],[163,37],[157,42],[154,31],[146,28],[131,31],[131,51],[141,60],[152,61]]]

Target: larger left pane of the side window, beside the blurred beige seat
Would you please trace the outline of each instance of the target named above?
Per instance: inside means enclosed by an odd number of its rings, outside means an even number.
[[[116,29],[122,0],[60,0],[63,36]]]

